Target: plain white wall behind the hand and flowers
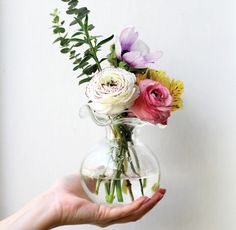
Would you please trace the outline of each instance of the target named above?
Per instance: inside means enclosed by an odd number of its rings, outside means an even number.
[[[146,128],[165,199],[138,223],[111,230],[236,229],[236,8],[234,0],[87,2],[96,32],[135,25],[158,68],[185,83],[184,110]],[[233,5],[234,4],[234,5]],[[78,170],[103,130],[78,118],[85,102],[72,64],[52,46],[56,0],[0,1],[0,217]],[[93,226],[60,229],[97,229]]]

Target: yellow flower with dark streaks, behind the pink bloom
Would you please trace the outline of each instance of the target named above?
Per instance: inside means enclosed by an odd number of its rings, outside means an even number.
[[[184,84],[180,80],[171,79],[164,71],[162,70],[152,70],[148,69],[145,74],[136,74],[137,84],[144,79],[151,79],[153,81],[158,81],[164,85],[169,91],[170,95],[173,98],[172,102],[172,111],[176,111],[183,107],[183,100],[181,95],[184,92]]]

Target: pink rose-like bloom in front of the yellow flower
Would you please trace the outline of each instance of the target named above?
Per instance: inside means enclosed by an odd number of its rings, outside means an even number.
[[[130,111],[141,120],[166,125],[172,103],[169,90],[159,82],[149,79],[141,81],[139,88],[140,95]]]

